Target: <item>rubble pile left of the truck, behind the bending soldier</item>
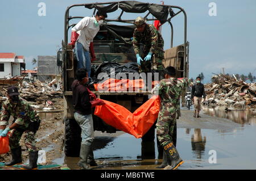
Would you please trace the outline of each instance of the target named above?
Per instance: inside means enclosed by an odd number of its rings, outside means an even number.
[[[36,79],[33,83],[23,81],[17,86],[20,97],[30,102],[36,110],[62,109],[59,99],[63,98],[61,81],[40,82]],[[7,87],[0,90],[0,106],[7,99]]]

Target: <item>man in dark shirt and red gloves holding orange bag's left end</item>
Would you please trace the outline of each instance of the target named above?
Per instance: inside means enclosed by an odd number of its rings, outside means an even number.
[[[92,142],[94,139],[92,107],[105,104],[103,100],[97,99],[96,95],[86,87],[88,73],[86,69],[76,71],[76,80],[72,83],[74,117],[81,128],[80,161],[77,163],[83,169],[89,166],[97,166],[93,158]]]

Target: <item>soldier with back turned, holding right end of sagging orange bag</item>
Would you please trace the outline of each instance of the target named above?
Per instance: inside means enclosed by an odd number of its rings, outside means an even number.
[[[159,82],[159,85],[154,87],[153,92],[158,91],[161,98],[161,107],[156,123],[156,134],[160,145],[163,146],[163,166],[168,166],[168,169],[176,169],[183,163],[179,157],[179,153],[175,148],[172,140],[176,119],[178,116],[179,100],[181,92],[189,86],[191,80],[188,78],[177,79],[175,77],[175,68],[170,66],[166,68],[166,74]]]

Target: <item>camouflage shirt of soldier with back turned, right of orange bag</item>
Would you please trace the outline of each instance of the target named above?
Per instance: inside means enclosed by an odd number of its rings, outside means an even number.
[[[162,105],[175,107],[176,111],[178,111],[181,92],[185,90],[190,83],[191,80],[188,78],[168,78],[162,79],[162,81],[159,82],[159,85],[154,89],[158,90]]]

